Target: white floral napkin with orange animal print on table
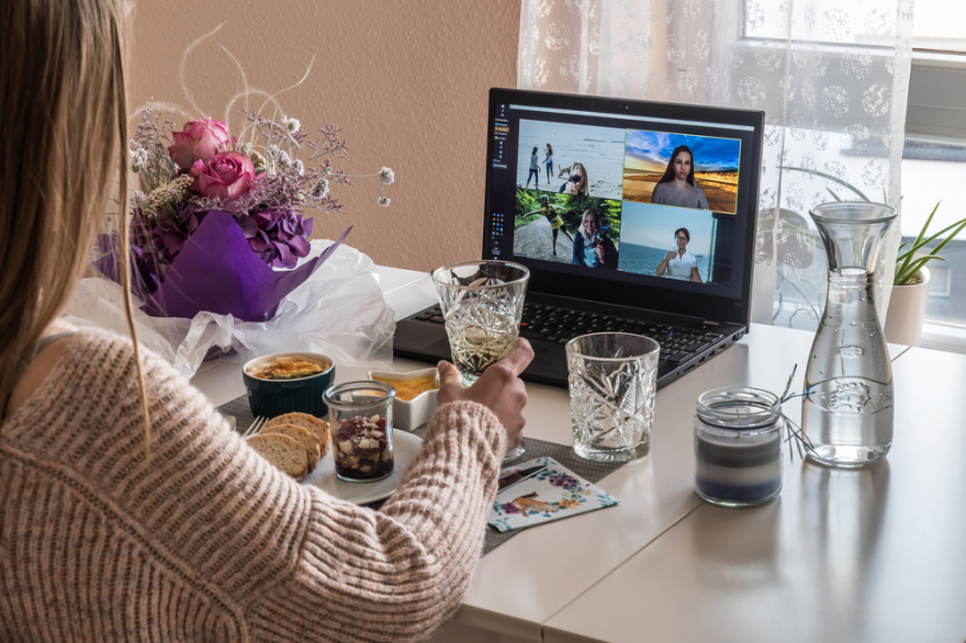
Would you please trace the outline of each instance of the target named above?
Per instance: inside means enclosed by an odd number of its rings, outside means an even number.
[[[499,531],[515,531],[620,503],[549,456],[513,469],[526,470],[541,464],[547,469],[497,494],[490,524]]]

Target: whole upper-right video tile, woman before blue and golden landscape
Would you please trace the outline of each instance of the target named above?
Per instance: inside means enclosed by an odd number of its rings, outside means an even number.
[[[737,212],[741,140],[628,129],[625,151],[625,201]],[[693,173],[675,182],[678,162]]]

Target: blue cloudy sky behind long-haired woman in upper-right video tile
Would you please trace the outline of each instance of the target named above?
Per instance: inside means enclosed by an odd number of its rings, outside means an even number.
[[[640,129],[627,132],[626,163],[636,170],[664,173],[671,160],[671,153],[678,145],[686,145],[694,153],[696,172],[738,171],[741,142],[737,138],[712,138]]]

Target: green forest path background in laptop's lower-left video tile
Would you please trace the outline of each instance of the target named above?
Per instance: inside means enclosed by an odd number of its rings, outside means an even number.
[[[592,240],[589,245],[595,246],[599,241],[605,248],[605,260],[597,267],[616,269],[620,247],[621,202],[615,199],[517,190],[514,256],[573,263],[575,245],[576,250],[584,247],[583,240],[579,241],[577,237],[588,208],[598,214],[602,237],[596,241]],[[577,264],[586,264],[582,252],[577,252],[576,260]]]

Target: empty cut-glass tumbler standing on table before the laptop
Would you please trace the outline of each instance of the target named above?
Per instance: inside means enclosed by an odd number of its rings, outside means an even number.
[[[658,352],[653,339],[595,332],[566,345],[574,452],[628,462],[651,451]]]

